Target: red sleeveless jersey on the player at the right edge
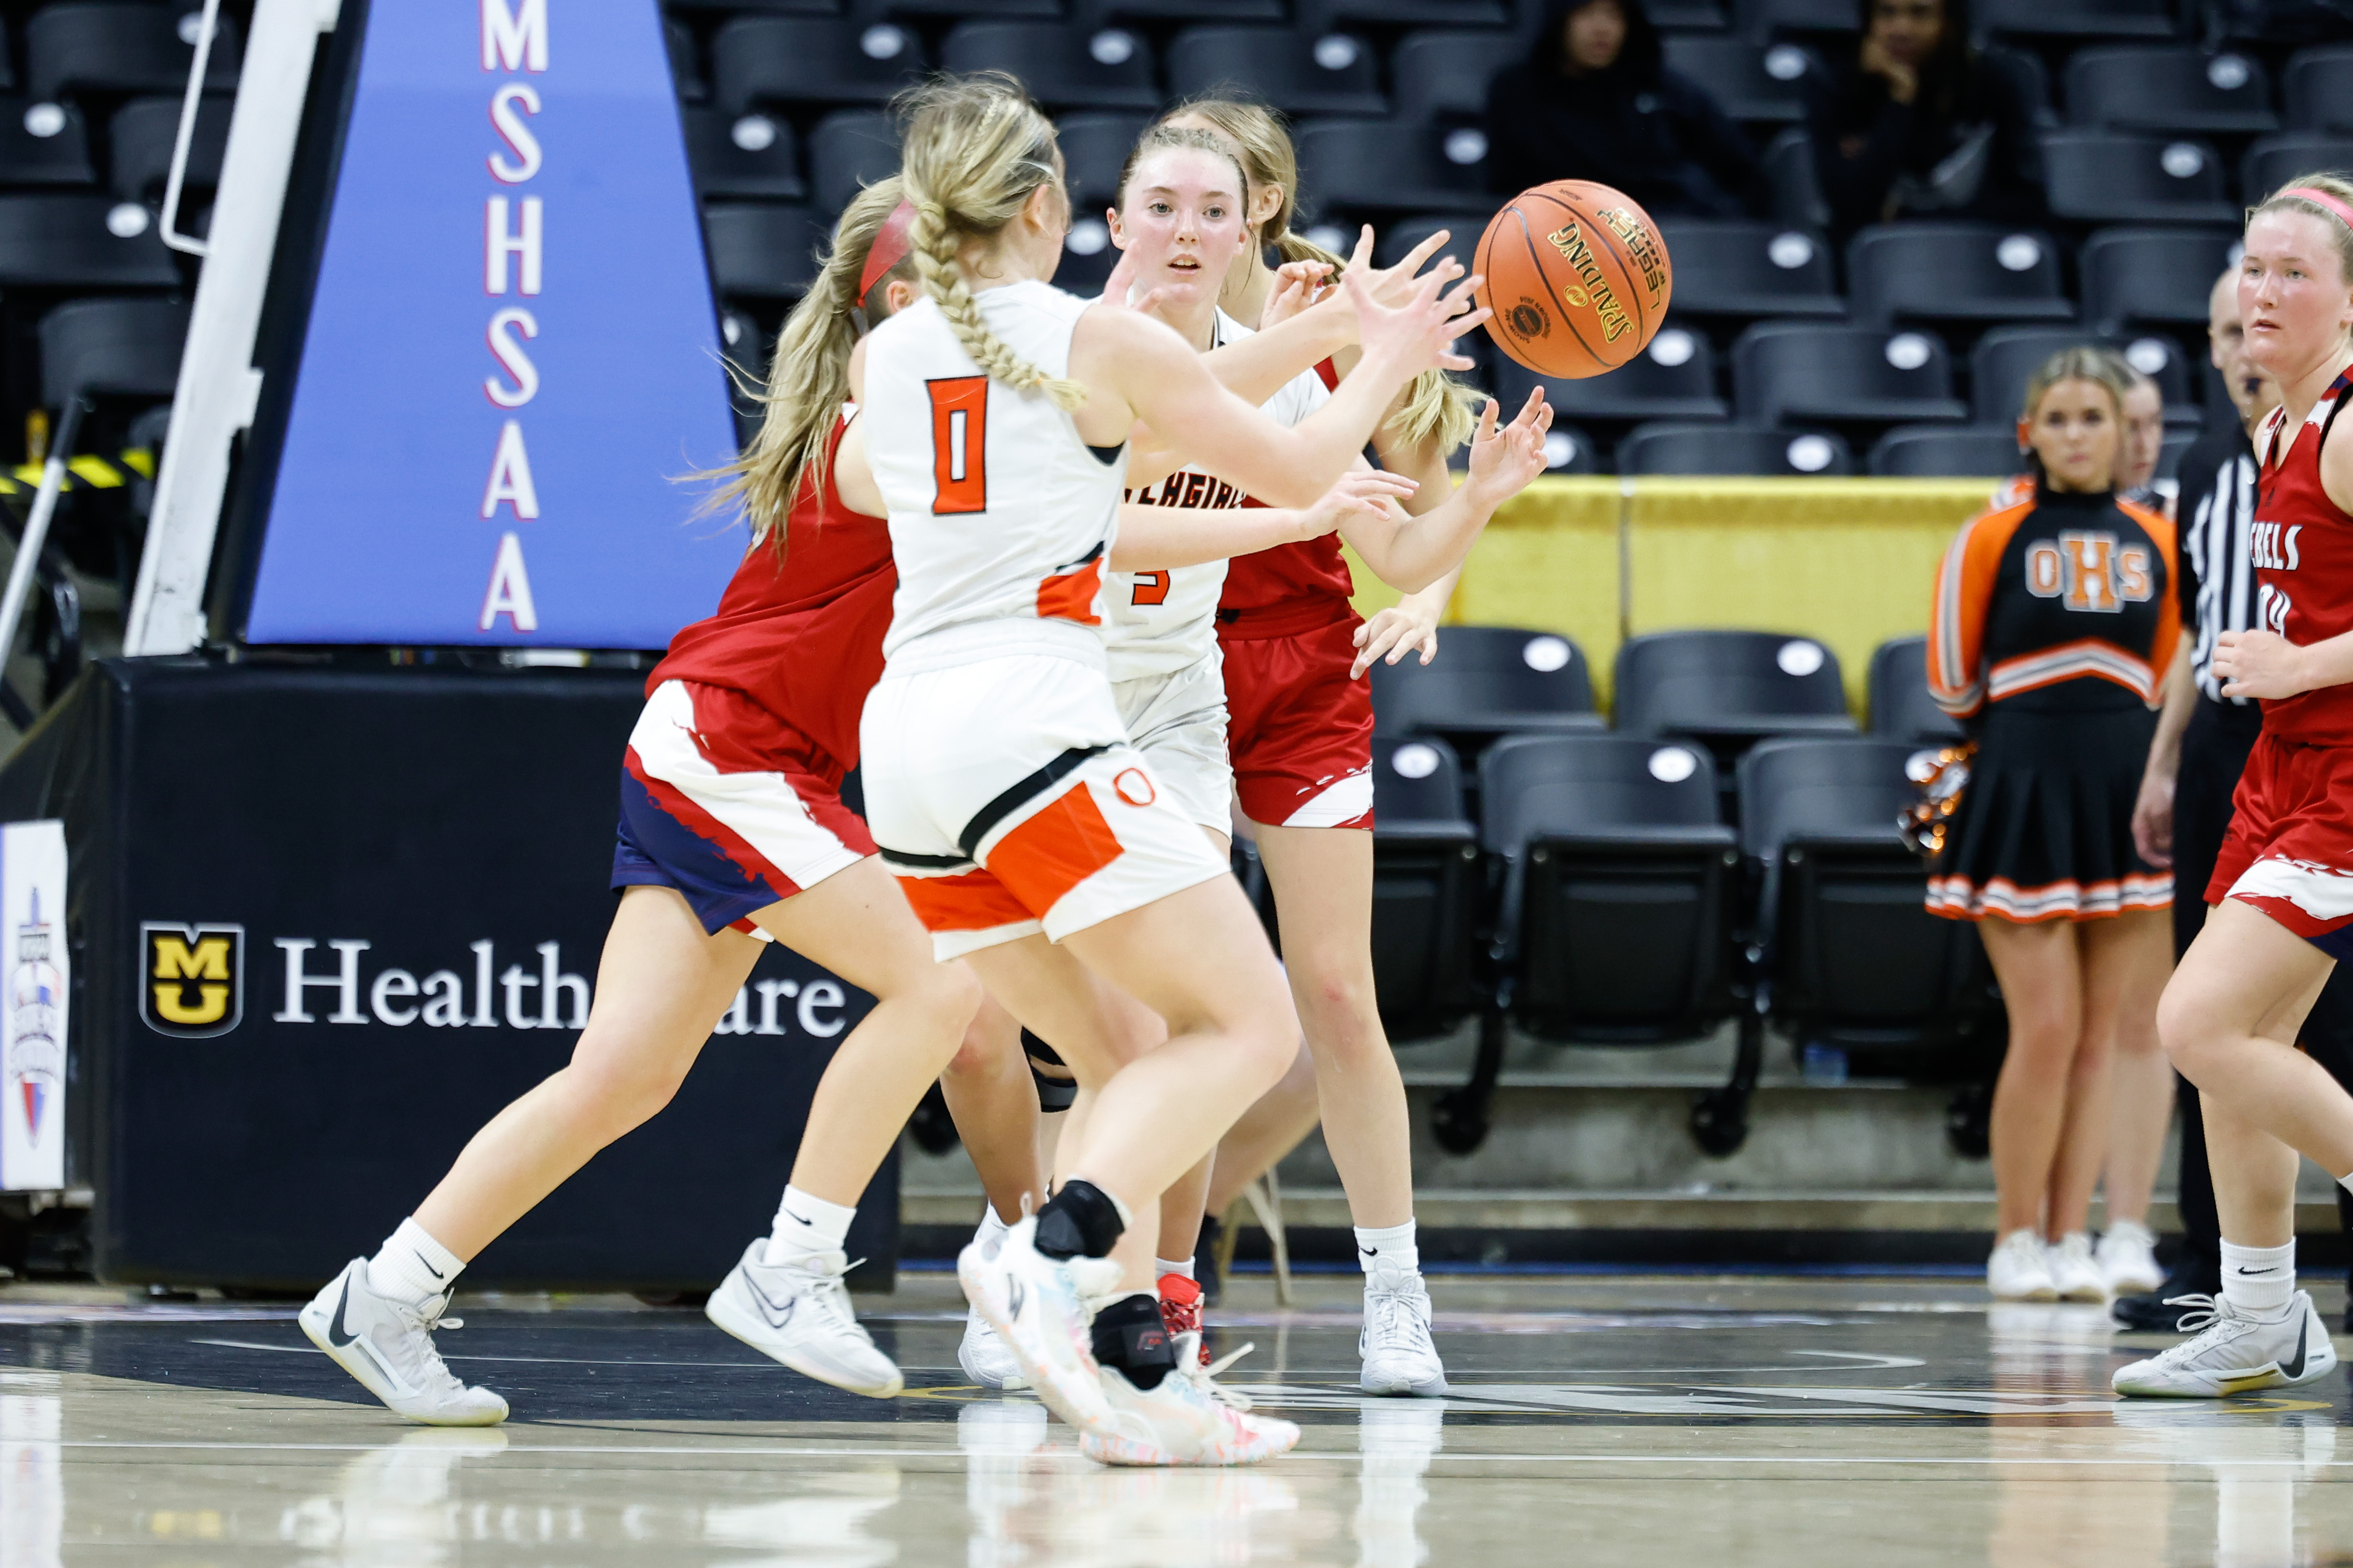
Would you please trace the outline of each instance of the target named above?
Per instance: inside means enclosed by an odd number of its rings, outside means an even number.
[[[2320,489],[2320,444],[2348,390],[2353,371],[2337,376],[2294,430],[2282,430],[2287,416],[2273,411],[2257,442],[2264,451],[2252,529],[2257,625],[2297,646],[2353,630],[2353,517]],[[2264,733],[2353,745],[2353,686],[2266,701]]]

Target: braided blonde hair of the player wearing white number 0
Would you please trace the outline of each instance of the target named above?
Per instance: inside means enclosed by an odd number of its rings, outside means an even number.
[[[922,292],[991,381],[1045,393],[1059,409],[1080,407],[1087,388],[1047,376],[998,339],[955,270],[962,240],[1005,233],[1038,186],[1061,190],[1052,120],[1002,71],[936,78],[899,94],[894,108],[904,127],[899,179],[915,207],[908,240]]]

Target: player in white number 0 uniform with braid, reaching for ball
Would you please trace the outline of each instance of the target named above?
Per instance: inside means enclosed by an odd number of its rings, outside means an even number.
[[[1061,1192],[993,1248],[967,1248],[960,1274],[1087,1453],[1266,1458],[1297,1429],[1169,1375],[1151,1237],[1141,1255],[1122,1246],[1132,1215],[1282,1074],[1297,1018],[1254,912],[1111,701],[1096,628],[1120,463],[1141,418],[1254,494],[1311,505],[1391,393],[1485,313],[1457,315],[1435,280],[1402,308],[1346,280],[1358,374],[1282,430],[1167,327],[1047,287],[1068,197],[1054,129],[1016,82],[944,78],[906,108],[927,299],[875,329],[864,364],[866,456],[899,564],[861,726],[868,816],[934,950],[965,954],[1094,1079]],[[1106,1058],[1089,976],[1165,1018],[1167,1044],[1125,1067]],[[1092,1328],[1087,1298],[1111,1298]]]

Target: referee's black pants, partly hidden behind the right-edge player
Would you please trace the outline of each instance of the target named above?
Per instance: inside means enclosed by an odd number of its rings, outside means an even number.
[[[2174,783],[2174,954],[2184,954],[2205,924],[2205,886],[2231,830],[2231,795],[2247,771],[2247,752],[2261,733],[2254,708],[2198,698],[2181,736],[2181,776]],[[2320,1001],[2297,1037],[2304,1053],[2353,1091],[2353,976],[2339,964],[2320,987]],[[2221,1220],[2214,1213],[2214,1168],[2205,1152],[2205,1114],[2198,1088],[2174,1079],[2181,1103],[2181,1229],[2186,1251],[2209,1269],[2221,1269]],[[2353,1234],[2353,1192],[2337,1190],[2337,1218]]]

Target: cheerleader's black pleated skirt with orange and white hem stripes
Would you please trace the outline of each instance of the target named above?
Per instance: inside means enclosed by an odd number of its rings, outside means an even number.
[[[1929,914],[2038,922],[2172,907],[2172,872],[2132,849],[2155,726],[2144,708],[1986,715],[1944,853],[1929,863]]]

